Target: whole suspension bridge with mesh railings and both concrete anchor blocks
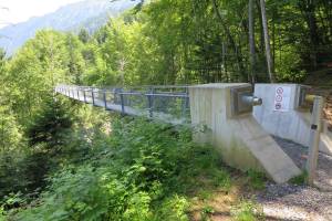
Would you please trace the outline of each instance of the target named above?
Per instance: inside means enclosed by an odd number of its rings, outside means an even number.
[[[195,143],[211,145],[228,165],[262,171],[276,182],[301,175],[301,169],[272,136],[310,146],[312,134],[320,141],[321,151],[332,156],[331,136],[321,133],[320,124],[310,125],[310,108],[302,108],[308,94],[308,87],[302,85],[257,84],[257,96],[252,85],[246,83],[142,87],[58,85],[55,92],[123,115],[190,125]]]

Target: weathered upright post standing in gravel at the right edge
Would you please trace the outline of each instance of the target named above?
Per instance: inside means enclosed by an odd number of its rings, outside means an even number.
[[[322,117],[324,108],[324,98],[321,96],[315,96],[313,99],[313,109],[311,115],[311,130],[310,130],[310,148],[307,161],[308,171],[308,183],[313,185],[315,178],[318,157],[319,157],[319,145],[320,135],[322,130]]]

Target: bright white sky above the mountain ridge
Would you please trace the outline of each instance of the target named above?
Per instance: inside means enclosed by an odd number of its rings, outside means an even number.
[[[0,0],[0,28],[44,15],[77,1],[82,0]]]

